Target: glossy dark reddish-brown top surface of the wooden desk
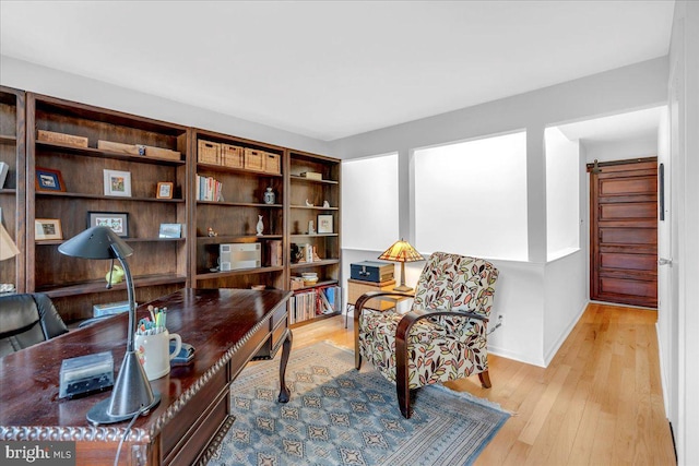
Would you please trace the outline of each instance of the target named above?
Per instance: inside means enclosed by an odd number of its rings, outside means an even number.
[[[174,367],[169,375],[151,382],[161,393],[161,404],[137,420],[134,428],[153,432],[168,407],[197,390],[212,368],[235,358],[237,345],[266,324],[289,296],[291,291],[283,290],[188,288],[139,306],[137,322],[149,315],[147,304],[167,307],[168,331],[179,334],[197,353],[192,363]],[[17,438],[17,427],[92,429],[85,415],[111,392],[59,398],[61,361],[111,351],[118,371],[126,353],[128,320],[128,312],[118,314],[0,358],[0,440]]]

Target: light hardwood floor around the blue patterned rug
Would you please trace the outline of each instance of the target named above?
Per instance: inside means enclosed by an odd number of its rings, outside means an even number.
[[[592,303],[547,368],[490,355],[491,389],[482,389],[477,377],[449,383],[514,414],[476,465],[676,464],[656,318],[650,310]],[[354,347],[352,319],[344,328],[344,315],[293,333],[294,347],[318,340]]]

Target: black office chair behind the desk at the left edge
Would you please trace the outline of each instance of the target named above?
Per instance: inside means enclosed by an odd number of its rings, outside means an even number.
[[[0,296],[0,358],[67,332],[48,296]]]

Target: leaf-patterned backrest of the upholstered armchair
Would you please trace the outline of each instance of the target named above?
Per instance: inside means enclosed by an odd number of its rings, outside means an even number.
[[[434,252],[417,280],[413,309],[466,311],[488,319],[498,270],[488,261]]]

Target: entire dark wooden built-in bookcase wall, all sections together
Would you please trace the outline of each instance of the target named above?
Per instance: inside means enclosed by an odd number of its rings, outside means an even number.
[[[47,294],[69,324],[93,316],[94,304],[127,299],[126,284],[106,287],[109,261],[58,251],[95,217],[127,222],[120,235],[134,250],[127,261],[138,302],[190,286],[292,289],[303,272],[320,278],[307,290],[340,283],[339,159],[5,87],[0,113],[0,160],[10,166],[0,206],[22,251],[0,263],[0,282]],[[105,170],[123,183],[111,186]],[[206,196],[209,179],[218,184]],[[55,235],[42,238],[47,223]],[[163,236],[164,225],[181,235]],[[259,244],[260,263],[222,270],[222,244]],[[318,260],[299,262],[299,244]]]

